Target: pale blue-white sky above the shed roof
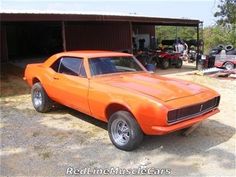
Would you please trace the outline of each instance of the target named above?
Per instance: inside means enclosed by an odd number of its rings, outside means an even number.
[[[214,25],[219,0],[0,0],[1,11],[58,11],[198,19]]]

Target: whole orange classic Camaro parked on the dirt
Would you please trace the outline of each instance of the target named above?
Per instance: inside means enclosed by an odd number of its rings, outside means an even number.
[[[144,134],[185,129],[219,112],[217,92],[150,73],[127,53],[58,53],[27,65],[24,79],[36,111],[57,102],[108,122],[109,137],[122,150],[136,148]]]

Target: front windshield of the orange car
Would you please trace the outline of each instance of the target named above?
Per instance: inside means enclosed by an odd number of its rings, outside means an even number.
[[[144,71],[133,57],[100,57],[90,58],[89,67],[92,76]]]

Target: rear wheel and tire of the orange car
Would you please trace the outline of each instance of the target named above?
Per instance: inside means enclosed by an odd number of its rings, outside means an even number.
[[[52,100],[48,97],[40,82],[35,83],[31,88],[31,99],[35,110],[38,112],[48,112],[52,108]]]

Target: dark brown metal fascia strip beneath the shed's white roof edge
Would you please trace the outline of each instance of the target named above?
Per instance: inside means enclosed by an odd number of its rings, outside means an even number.
[[[198,26],[201,21],[191,19],[158,18],[103,14],[59,14],[59,13],[0,13],[1,21],[102,21],[132,22],[150,25]]]

